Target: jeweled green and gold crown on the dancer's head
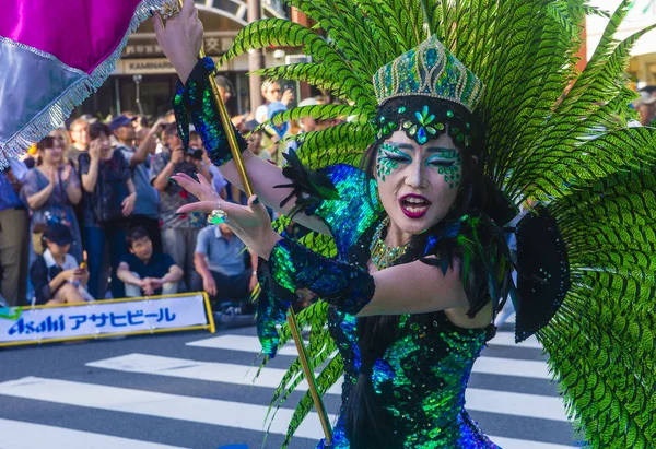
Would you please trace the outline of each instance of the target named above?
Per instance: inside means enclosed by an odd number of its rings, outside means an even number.
[[[373,81],[378,105],[422,95],[460,104],[473,113],[483,92],[481,81],[435,36],[383,66]]]

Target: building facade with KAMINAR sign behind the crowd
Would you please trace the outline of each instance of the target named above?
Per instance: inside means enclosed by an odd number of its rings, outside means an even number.
[[[219,58],[232,44],[237,32],[247,25],[244,0],[195,0],[204,27],[204,50]],[[281,0],[261,0],[263,17],[288,19],[292,14]],[[285,63],[286,52],[265,51],[265,67]],[[248,55],[243,55],[219,68],[230,79],[236,95],[227,102],[231,115],[249,109]],[[155,38],[151,21],[145,21],[130,35],[115,72],[73,116],[90,114],[98,118],[133,111],[145,117],[159,117],[171,109],[171,97],[177,76]]]

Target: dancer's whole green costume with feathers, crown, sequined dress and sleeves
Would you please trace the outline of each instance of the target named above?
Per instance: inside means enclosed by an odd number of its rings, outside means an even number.
[[[363,371],[354,338],[358,321],[349,315],[373,294],[367,273],[358,267],[368,256],[379,220],[375,204],[363,201],[367,188],[353,188],[362,178],[353,167],[370,145],[397,129],[420,144],[449,132],[459,147],[480,152],[488,201],[480,213],[423,236],[422,245],[398,263],[425,253],[448,262],[446,256],[455,253],[471,263],[471,272],[489,277],[481,304],[496,302],[504,296],[508,270],[494,236],[514,218],[518,204],[537,199],[542,205],[515,228],[516,339],[536,334],[542,343],[573,424],[590,447],[656,447],[656,130],[628,127],[635,118],[626,107],[634,93],[624,73],[631,46],[653,27],[616,39],[631,3],[623,1],[579,72],[581,24],[586,13],[600,13],[579,0],[288,2],[326,37],[267,19],[246,26],[222,62],[251,48],[300,47],[312,62],[261,73],[308,82],[349,103],[291,109],[272,125],[303,117],[349,120],[297,137],[297,157],[292,154],[283,172],[297,193],[298,211],[323,216],[335,238],[304,237],[302,245],[312,249],[305,253],[291,241],[274,248],[269,272],[260,277],[258,331],[265,352],[273,355],[291,339],[286,327],[276,327],[292,300],[290,287],[314,282],[331,306],[318,302],[298,315],[298,322],[312,327],[307,353],[312,365],[321,368],[319,393],[343,375],[347,399],[354,377],[371,374],[400,439],[395,447],[495,447],[462,409],[471,364],[488,332],[457,329],[441,312],[401,317],[393,345]],[[420,52],[427,66],[403,66],[398,59],[419,60],[413,49],[431,38],[443,47]],[[433,78],[430,67],[444,60],[457,70]],[[405,72],[397,70],[402,67]],[[204,70],[212,70],[211,61]],[[220,165],[230,154],[202,75],[190,76],[176,103],[191,113],[210,157]],[[452,103],[433,108],[437,103],[430,101],[380,102],[408,93]],[[288,220],[280,221],[280,229]],[[328,281],[343,284],[350,298],[332,297]],[[340,354],[329,359],[336,350]],[[427,375],[427,387],[419,373]],[[271,405],[284,402],[302,380],[296,361]],[[312,406],[305,394],[288,441]],[[349,447],[341,417],[335,441]]]

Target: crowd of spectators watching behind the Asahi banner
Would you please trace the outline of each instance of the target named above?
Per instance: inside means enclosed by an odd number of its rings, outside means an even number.
[[[216,81],[224,101],[234,95],[229,80]],[[262,84],[262,96],[257,111],[233,122],[249,150],[272,164],[284,163],[295,133],[333,125],[259,127],[294,102],[276,81]],[[150,126],[130,111],[82,116],[36,142],[0,173],[1,297],[23,306],[206,291],[213,307],[251,314],[257,257],[226,225],[177,213],[196,198],[171,179],[176,173],[204,176],[221,198],[246,201],[210,164],[194,130],[184,147],[172,114]]]

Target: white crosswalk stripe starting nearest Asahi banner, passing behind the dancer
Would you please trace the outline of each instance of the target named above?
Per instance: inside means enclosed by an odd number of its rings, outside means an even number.
[[[187,343],[187,345],[197,347],[210,347],[214,350],[248,352],[256,354],[260,352],[260,344],[257,340],[257,336],[249,335],[219,335],[195,342],[189,342]],[[297,355],[297,352],[296,347],[293,344],[286,344],[279,351],[279,354]],[[488,357],[485,355],[479,357],[479,359],[473,364],[472,373],[532,377],[537,379],[551,379],[547,369],[547,365],[543,362]]]

